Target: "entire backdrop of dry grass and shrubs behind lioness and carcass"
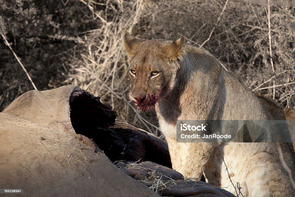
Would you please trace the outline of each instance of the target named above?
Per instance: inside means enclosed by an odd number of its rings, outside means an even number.
[[[127,31],[139,40],[183,35],[253,91],[295,108],[295,7],[286,3],[0,0],[0,13],[0,31],[39,90],[76,84],[156,135],[155,113],[137,112],[127,97]],[[0,47],[1,110],[33,87],[4,41]]]

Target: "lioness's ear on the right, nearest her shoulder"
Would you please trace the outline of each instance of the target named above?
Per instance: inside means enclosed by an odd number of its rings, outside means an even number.
[[[166,54],[169,61],[182,61],[185,55],[184,37],[175,40],[166,46]]]

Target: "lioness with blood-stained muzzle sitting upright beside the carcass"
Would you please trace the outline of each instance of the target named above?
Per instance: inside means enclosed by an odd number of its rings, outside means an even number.
[[[234,194],[232,183],[239,182],[244,196],[295,193],[276,143],[176,143],[177,120],[266,120],[271,116],[212,54],[185,45],[183,37],[174,42],[139,42],[129,33],[123,48],[130,69],[130,99],[143,111],[155,107],[173,169],[198,180],[204,173],[208,183]],[[288,147],[281,144],[281,148],[294,172]]]

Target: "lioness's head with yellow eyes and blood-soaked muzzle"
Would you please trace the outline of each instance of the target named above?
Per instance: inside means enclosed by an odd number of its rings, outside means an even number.
[[[130,100],[140,110],[151,110],[174,87],[185,54],[184,38],[140,42],[126,33],[123,48],[129,64]]]

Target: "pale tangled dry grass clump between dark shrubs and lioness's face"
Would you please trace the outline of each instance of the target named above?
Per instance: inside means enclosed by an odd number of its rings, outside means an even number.
[[[87,5],[101,27],[83,32],[76,38],[55,36],[53,39],[75,40],[77,45],[68,51],[64,63],[65,84],[76,84],[82,89],[101,96],[119,114],[119,119],[158,134],[159,128],[141,115],[128,99],[128,66],[122,52],[125,32],[132,32],[138,23],[145,4],[142,0],[108,1],[95,9],[94,1],[79,0]],[[139,124],[138,124],[139,122]]]

